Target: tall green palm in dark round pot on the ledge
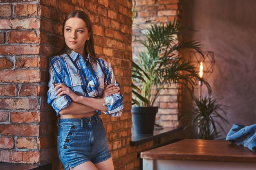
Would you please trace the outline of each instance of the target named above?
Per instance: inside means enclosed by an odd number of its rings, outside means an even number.
[[[174,20],[152,24],[139,40],[146,51],[137,53],[132,61],[132,121],[135,133],[152,134],[158,107],[153,107],[161,90],[173,83],[186,86],[193,95],[200,78],[195,67],[179,56],[183,49],[193,49],[202,56],[199,42],[180,42],[177,35],[186,29]],[[209,84],[202,79],[207,86]]]

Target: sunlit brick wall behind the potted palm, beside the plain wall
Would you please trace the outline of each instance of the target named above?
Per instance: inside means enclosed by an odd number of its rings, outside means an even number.
[[[139,28],[148,28],[156,22],[168,22],[177,19],[179,0],[134,0],[135,18],[132,25],[132,55],[136,56],[144,47],[137,41],[141,37]],[[142,38],[143,39],[143,38]],[[156,122],[164,127],[178,126],[179,87],[175,84],[171,89],[164,89],[156,99],[154,106],[159,110]]]

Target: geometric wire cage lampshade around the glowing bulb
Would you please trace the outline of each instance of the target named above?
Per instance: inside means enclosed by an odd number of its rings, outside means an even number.
[[[206,79],[209,77],[209,75],[213,72],[215,60],[214,60],[214,54],[212,51],[202,51],[204,54],[204,58],[200,53],[196,51],[190,51],[190,62],[194,64],[195,68],[197,69],[199,73],[200,63],[202,62],[203,65],[203,77]]]

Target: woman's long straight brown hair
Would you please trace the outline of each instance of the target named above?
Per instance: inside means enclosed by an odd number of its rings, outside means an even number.
[[[92,23],[91,23],[90,18],[88,17],[88,15],[85,12],[81,11],[81,10],[74,10],[74,11],[70,12],[66,16],[65,20],[63,21],[63,25],[62,25],[63,37],[64,37],[65,23],[70,18],[81,18],[85,22],[86,28],[88,29],[88,33],[91,33],[90,39],[88,41],[85,41],[85,47],[84,47],[85,53],[86,53],[86,55],[89,53],[90,57],[92,57],[92,58],[97,58],[96,54],[95,54],[95,49],[94,49]],[[65,43],[65,40],[64,40],[64,46],[59,51],[59,55],[61,55],[63,53],[70,53],[70,52],[71,52],[71,49],[67,46],[67,44]]]

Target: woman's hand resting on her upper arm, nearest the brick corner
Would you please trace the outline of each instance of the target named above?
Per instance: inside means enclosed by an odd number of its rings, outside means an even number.
[[[70,88],[68,88],[65,84],[63,83],[56,83],[56,86],[54,88],[59,88],[55,95],[61,96],[61,95],[68,95],[73,102],[78,102],[79,96],[76,95]]]

